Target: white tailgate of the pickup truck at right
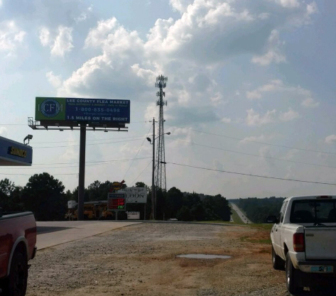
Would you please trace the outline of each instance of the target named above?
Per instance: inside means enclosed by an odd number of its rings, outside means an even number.
[[[305,227],[306,260],[336,260],[336,226]]]

